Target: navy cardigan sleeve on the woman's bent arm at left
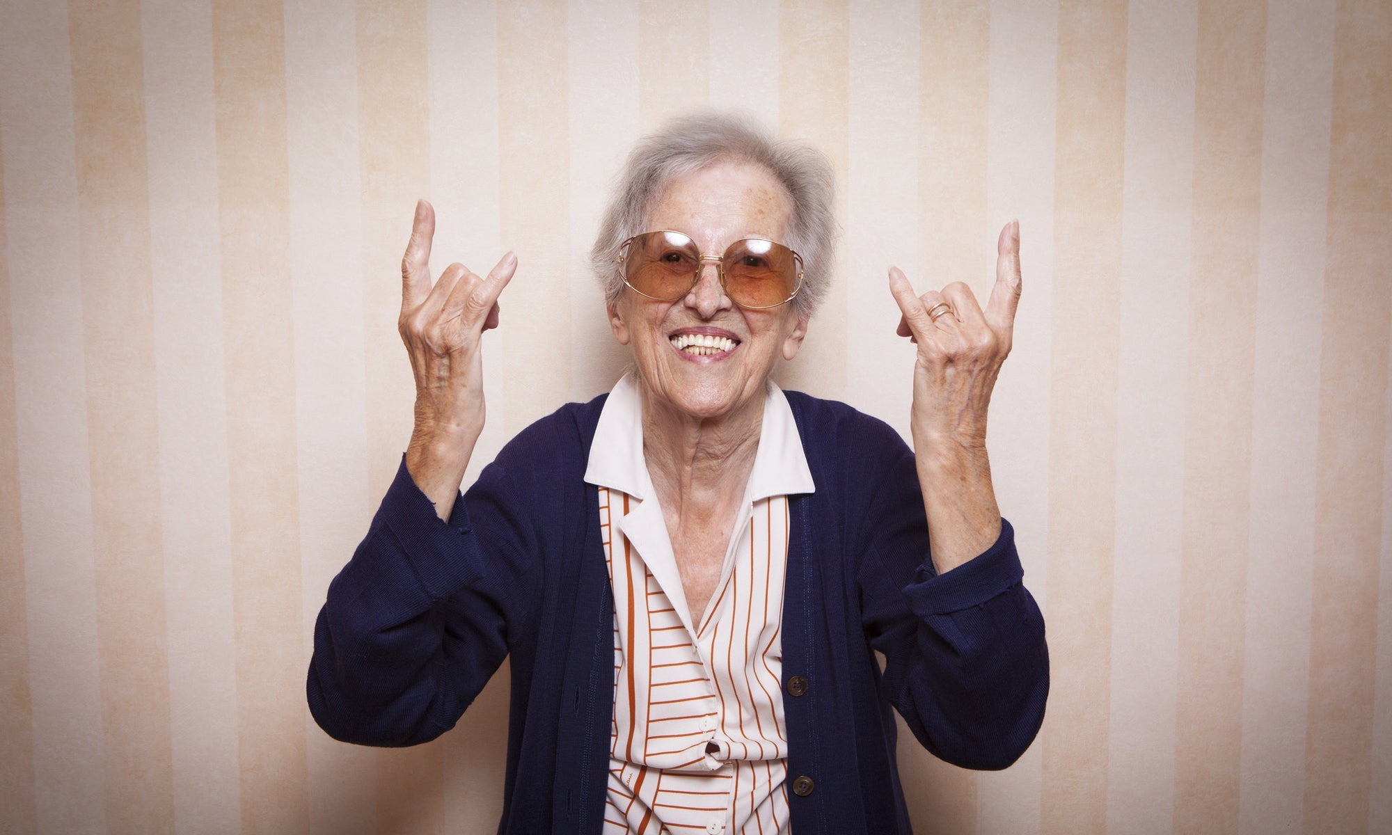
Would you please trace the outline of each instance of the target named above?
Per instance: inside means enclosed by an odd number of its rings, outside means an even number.
[[[455,725],[508,653],[528,611],[526,526],[507,514],[509,482],[490,465],[450,520],[405,461],[367,536],[329,586],[315,625],[310,713],[334,739],[406,746]],[[507,532],[498,536],[497,532]]]

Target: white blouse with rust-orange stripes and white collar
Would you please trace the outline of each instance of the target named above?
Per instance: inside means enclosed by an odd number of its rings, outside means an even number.
[[[643,462],[631,376],[604,405],[586,482],[600,487],[615,608],[604,832],[786,832],[786,495],[813,490],[786,399],[770,384],[745,511],[699,619]]]

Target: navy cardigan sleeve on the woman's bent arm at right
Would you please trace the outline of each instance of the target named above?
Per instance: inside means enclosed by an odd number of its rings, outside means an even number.
[[[889,430],[892,433],[892,430]],[[884,653],[881,692],[919,742],[952,764],[998,770],[1044,719],[1044,618],[1023,584],[1011,523],[979,557],[937,575],[913,454],[898,452],[869,495],[859,568],[862,618]]]

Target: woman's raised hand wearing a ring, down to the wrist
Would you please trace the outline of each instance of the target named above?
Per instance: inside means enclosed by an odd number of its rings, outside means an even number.
[[[896,267],[889,269],[889,292],[903,315],[898,334],[919,345],[913,369],[915,447],[924,441],[984,450],[986,412],[1001,363],[1011,352],[1020,301],[1019,223],[1001,230],[995,285],[984,312],[972,288],[960,281],[916,296]]]

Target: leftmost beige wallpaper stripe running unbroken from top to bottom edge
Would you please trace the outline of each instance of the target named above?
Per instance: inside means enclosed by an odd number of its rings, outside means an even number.
[[[139,7],[71,3],[109,832],[174,825]]]

